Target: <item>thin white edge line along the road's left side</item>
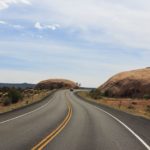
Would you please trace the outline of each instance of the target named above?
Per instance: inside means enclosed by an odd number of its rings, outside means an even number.
[[[54,97],[53,97],[52,99],[54,99]],[[37,108],[37,109],[35,109],[35,110],[33,110],[33,111],[30,111],[30,112],[25,113],[25,114],[23,114],[23,115],[20,115],[20,116],[17,116],[17,117],[14,117],[14,118],[11,118],[11,119],[2,121],[2,122],[0,122],[0,125],[1,125],[1,124],[4,124],[4,123],[7,123],[7,122],[9,122],[9,121],[16,120],[16,119],[18,119],[18,118],[24,117],[24,116],[26,116],[26,115],[32,114],[32,113],[34,113],[34,112],[36,112],[36,111],[38,111],[38,110],[41,110],[42,108],[46,107],[50,102],[52,102],[52,99],[49,100],[46,104],[40,106],[39,108]]]

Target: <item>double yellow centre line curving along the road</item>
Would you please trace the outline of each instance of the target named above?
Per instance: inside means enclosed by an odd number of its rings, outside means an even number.
[[[66,96],[67,97],[67,96]],[[32,150],[42,150],[44,149],[48,143],[50,143],[69,123],[72,116],[72,106],[71,103],[67,100],[68,113],[63,122],[52,131],[47,137],[45,137],[41,142],[35,145]]]

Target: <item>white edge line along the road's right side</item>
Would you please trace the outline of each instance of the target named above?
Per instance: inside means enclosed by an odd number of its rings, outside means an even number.
[[[94,106],[96,107],[96,106]],[[144,146],[145,148],[147,148],[148,150],[150,150],[150,146],[143,140],[141,139],[131,128],[129,128],[126,124],[124,124],[121,120],[119,120],[118,118],[116,118],[115,116],[113,116],[112,114],[106,112],[105,110],[96,107],[98,110],[103,111],[104,113],[106,113],[107,115],[111,116],[113,119],[115,119],[117,122],[119,122],[122,126],[124,126],[130,133],[132,133]]]

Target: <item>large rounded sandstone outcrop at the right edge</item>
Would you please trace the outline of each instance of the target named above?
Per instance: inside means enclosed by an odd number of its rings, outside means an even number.
[[[110,97],[143,98],[150,95],[150,68],[119,73],[98,90]]]

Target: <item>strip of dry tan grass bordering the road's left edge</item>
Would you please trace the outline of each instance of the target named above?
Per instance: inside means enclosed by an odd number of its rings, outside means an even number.
[[[15,103],[15,104],[11,104],[9,106],[4,106],[2,103],[0,103],[0,114],[2,113],[6,113],[12,110],[16,110],[19,108],[23,108],[25,106],[31,105],[33,103],[37,103],[41,100],[43,100],[44,98],[46,98],[48,95],[50,95],[52,91],[47,91],[47,90],[41,90],[36,94],[32,94],[30,96],[26,96],[24,97],[21,101]]]

